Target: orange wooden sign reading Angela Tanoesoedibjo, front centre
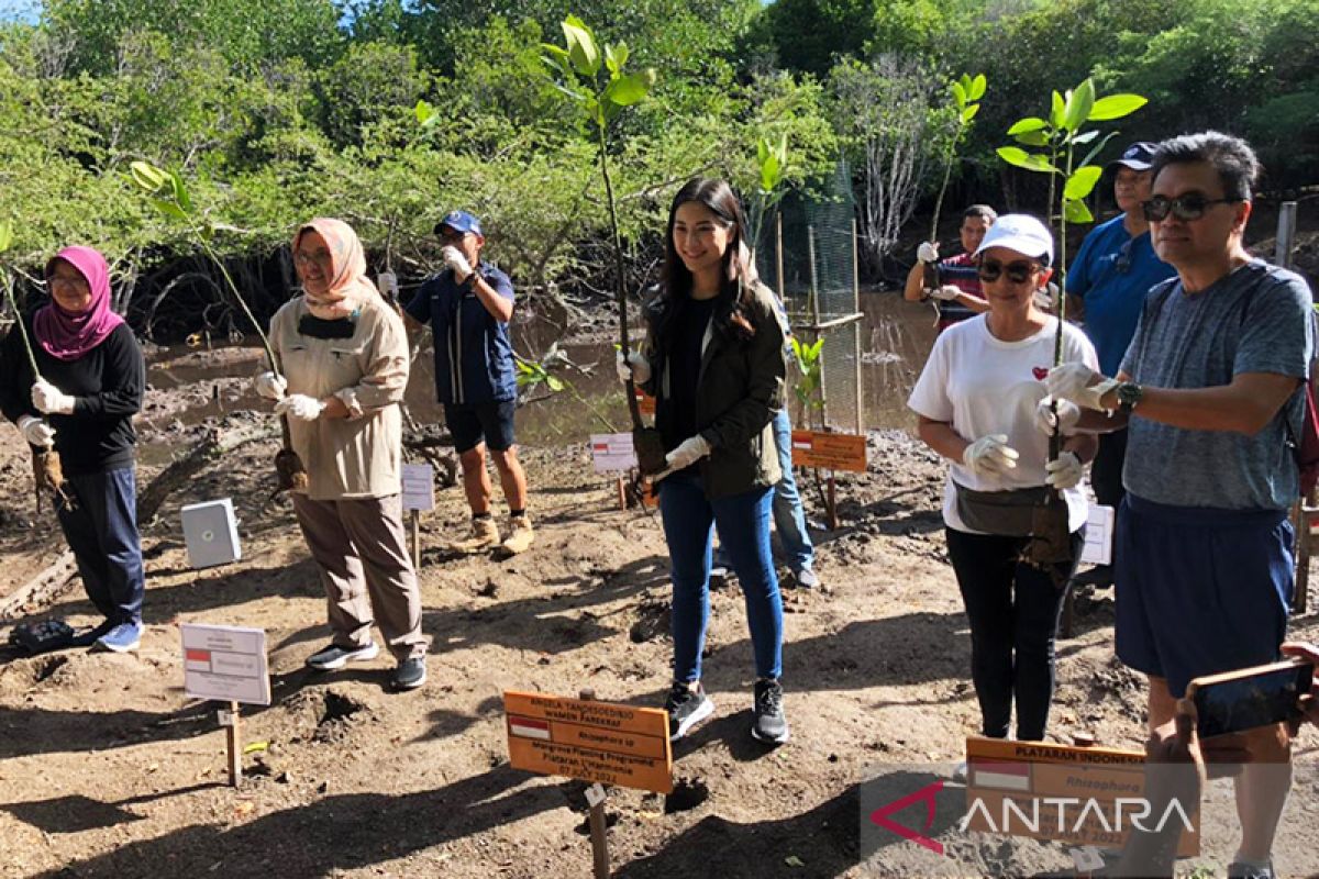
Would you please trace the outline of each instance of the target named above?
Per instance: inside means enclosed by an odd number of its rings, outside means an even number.
[[[513,768],[670,793],[669,714],[541,693],[504,693]]]

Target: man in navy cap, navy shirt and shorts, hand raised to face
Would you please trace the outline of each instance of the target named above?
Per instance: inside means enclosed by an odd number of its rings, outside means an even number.
[[[435,235],[445,244],[445,270],[421,286],[406,314],[417,324],[429,322],[434,336],[435,390],[445,405],[445,422],[454,435],[463,490],[472,509],[472,536],[460,548],[479,552],[500,546],[485,473],[489,447],[509,509],[509,534],[503,546],[522,552],[532,546],[534,531],[526,515],[526,473],[513,438],[517,369],[508,337],[513,285],[480,258],[485,237],[480,221],[467,211],[446,215],[435,224]]]

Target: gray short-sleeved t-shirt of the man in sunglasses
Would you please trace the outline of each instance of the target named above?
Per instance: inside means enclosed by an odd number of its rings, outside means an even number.
[[[1216,387],[1237,373],[1307,377],[1314,356],[1310,289],[1301,275],[1252,260],[1198,294],[1178,278],[1145,298],[1122,372],[1151,387]],[[1175,506],[1279,510],[1299,496],[1290,436],[1301,436],[1298,390],[1268,427],[1246,436],[1132,415],[1122,485]],[[1291,430],[1283,418],[1290,420]]]

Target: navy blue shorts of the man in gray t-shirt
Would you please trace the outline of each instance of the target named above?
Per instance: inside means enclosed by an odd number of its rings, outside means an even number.
[[[1130,493],[1117,517],[1117,658],[1167,679],[1181,698],[1192,677],[1278,658],[1294,565],[1286,510],[1154,503]]]

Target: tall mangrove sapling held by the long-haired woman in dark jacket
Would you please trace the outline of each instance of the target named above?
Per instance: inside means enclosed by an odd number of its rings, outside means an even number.
[[[609,124],[619,117],[624,107],[630,107],[646,96],[654,86],[656,72],[649,69],[640,74],[623,72],[628,62],[628,46],[625,43],[616,46],[605,43],[601,51],[595,34],[576,16],[565,18],[562,26],[567,47],[541,43],[541,49],[545,50],[541,59],[550,74],[555,76],[555,87],[576,101],[595,127],[600,177],[604,179],[604,196],[609,207],[609,231],[613,242],[619,345],[623,356],[627,357],[630,351],[628,297],[624,283],[625,266],[623,237],[619,232],[619,207],[613,195],[613,179],[609,177]],[[641,420],[641,407],[637,403],[630,376],[624,385],[628,411],[632,415],[632,444],[637,453],[637,469],[642,474],[660,473],[667,467],[663,440],[660,431],[646,427],[645,422]]]

